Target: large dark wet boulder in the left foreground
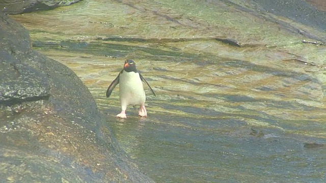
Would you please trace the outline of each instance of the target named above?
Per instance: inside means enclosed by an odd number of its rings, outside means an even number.
[[[0,182],[153,182],[112,139],[87,87],[0,13]]]

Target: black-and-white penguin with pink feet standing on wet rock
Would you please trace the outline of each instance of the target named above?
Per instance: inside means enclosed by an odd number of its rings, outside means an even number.
[[[132,59],[127,59],[124,63],[122,71],[119,73],[117,78],[112,81],[110,86],[106,90],[106,97],[110,97],[113,89],[120,84],[120,104],[121,113],[116,117],[126,118],[126,109],[128,105],[140,105],[139,116],[146,117],[147,111],[145,108],[145,91],[143,88],[143,82],[145,82],[151,89],[152,93],[156,97],[153,89],[144,79],[144,77],[136,69],[136,63]]]

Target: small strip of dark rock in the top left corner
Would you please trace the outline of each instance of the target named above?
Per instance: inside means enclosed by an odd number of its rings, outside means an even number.
[[[6,14],[20,14],[40,10],[51,10],[69,6],[83,0],[2,0],[0,10]]]

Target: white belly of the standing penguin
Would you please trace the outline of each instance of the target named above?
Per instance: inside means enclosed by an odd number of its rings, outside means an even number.
[[[139,73],[123,71],[119,76],[119,92],[122,110],[127,105],[144,105],[146,96]]]

